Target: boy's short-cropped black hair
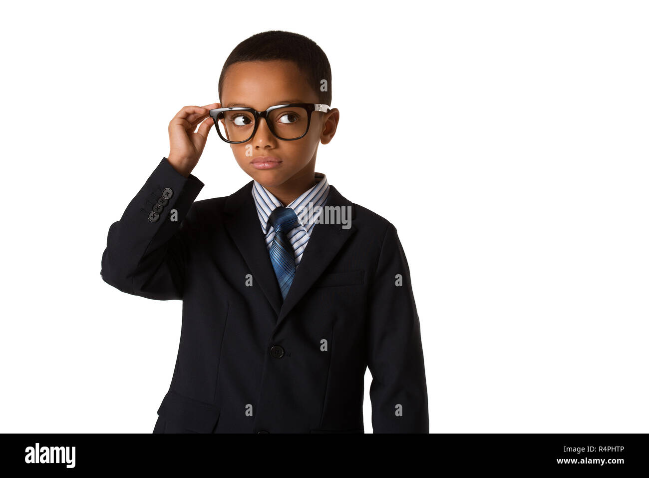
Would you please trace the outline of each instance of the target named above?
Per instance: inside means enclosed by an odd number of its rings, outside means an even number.
[[[290,60],[306,76],[308,84],[318,95],[319,103],[331,105],[331,66],[324,51],[304,35],[280,30],[261,32],[246,38],[234,47],[225,60],[219,77],[219,98],[223,92],[223,79],[228,66],[238,62],[265,60]],[[326,80],[326,91],[321,91],[321,81]],[[223,106],[223,105],[221,105]]]

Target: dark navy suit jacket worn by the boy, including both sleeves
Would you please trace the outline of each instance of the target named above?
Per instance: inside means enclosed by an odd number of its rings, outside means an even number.
[[[351,227],[315,224],[282,301],[252,181],[195,201],[203,186],[162,158],[110,225],[101,260],[122,292],[182,300],[154,433],[363,433],[367,367],[374,433],[428,433],[419,316],[394,225],[330,186],[326,205],[351,207]]]

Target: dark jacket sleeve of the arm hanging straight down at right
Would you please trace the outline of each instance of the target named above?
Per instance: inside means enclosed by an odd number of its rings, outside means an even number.
[[[429,433],[419,316],[406,255],[391,223],[371,283],[367,364],[374,433]]]

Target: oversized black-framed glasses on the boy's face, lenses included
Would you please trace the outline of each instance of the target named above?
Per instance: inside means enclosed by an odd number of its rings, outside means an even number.
[[[311,114],[331,110],[329,105],[319,103],[287,103],[275,105],[265,111],[254,108],[232,107],[210,110],[216,131],[221,139],[230,144],[250,141],[257,131],[259,119],[264,118],[275,138],[284,141],[299,140],[309,131]]]

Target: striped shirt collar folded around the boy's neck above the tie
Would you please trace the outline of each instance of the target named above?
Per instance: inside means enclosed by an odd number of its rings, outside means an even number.
[[[309,235],[313,225],[315,225],[315,218],[320,211],[317,206],[322,206],[329,195],[329,183],[326,175],[315,173],[314,179],[316,181],[315,186],[300,194],[286,206],[295,211],[300,225],[304,227],[304,230]],[[257,181],[252,182],[252,197],[257,208],[257,216],[259,216],[263,234],[267,234],[267,228],[271,229],[273,227],[269,225],[268,218],[276,207],[282,207],[282,203]],[[312,203],[312,207],[310,207],[309,203]]]

